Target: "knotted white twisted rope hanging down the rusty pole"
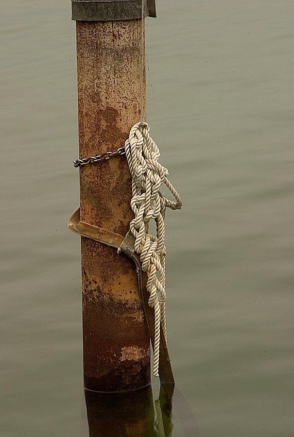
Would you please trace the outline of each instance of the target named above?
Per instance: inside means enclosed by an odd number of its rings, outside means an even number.
[[[180,196],[167,180],[168,170],[159,162],[159,150],[149,135],[147,123],[135,124],[125,142],[125,154],[132,175],[131,207],[135,218],[130,231],[135,236],[135,252],[140,255],[142,270],[147,273],[149,306],[154,308],[155,338],[153,374],[158,376],[160,324],[166,339],[165,320],[165,207],[180,209]],[[175,198],[167,199],[159,188],[165,184]],[[151,219],[156,222],[156,236],[148,232]]]

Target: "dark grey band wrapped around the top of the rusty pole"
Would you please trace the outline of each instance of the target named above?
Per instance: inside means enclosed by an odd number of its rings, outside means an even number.
[[[144,0],[144,17],[156,17],[155,0]],[[71,0],[75,21],[117,21],[142,17],[141,0]]]

